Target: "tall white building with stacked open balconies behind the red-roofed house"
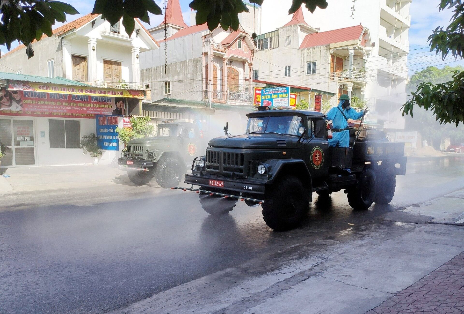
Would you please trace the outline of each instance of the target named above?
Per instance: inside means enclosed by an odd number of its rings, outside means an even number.
[[[364,99],[373,108],[377,123],[385,128],[402,129],[404,119],[400,108],[406,101],[408,33],[411,26],[409,5],[411,0],[356,0],[329,3],[326,9],[316,8],[314,13],[303,10],[311,26],[321,33],[346,26],[362,25],[369,31],[372,49],[366,50],[366,87]],[[281,12],[291,6],[290,0],[266,0],[262,6],[261,28],[264,32],[283,25],[288,18]],[[354,7],[354,10],[352,9]],[[356,50],[354,50],[354,56]],[[349,54],[340,56],[343,66]],[[256,64],[256,60],[254,61]],[[331,66],[325,62],[326,66]],[[335,60],[335,67],[337,61]],[[341,62],[338,62],[340,69]],[[348,88],[349,86],[341,86]]]

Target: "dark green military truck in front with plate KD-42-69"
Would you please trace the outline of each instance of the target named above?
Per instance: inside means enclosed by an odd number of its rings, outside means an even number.
[[[210,140],[185,176],[192,188],[179,189],[261,204],[266,224],[283,231],[302,222],[313,192],[324,198],[343,189],[352,208],[365,210],[373,202],[389,203],[395,175],[406,174],[404,143],[389,142],[381,130],[352,128],[352,147],[329,147],[331,132],[320,112],[265,110],[247,116],[246,133]],[[205,210],[221,214],[233,206]]]

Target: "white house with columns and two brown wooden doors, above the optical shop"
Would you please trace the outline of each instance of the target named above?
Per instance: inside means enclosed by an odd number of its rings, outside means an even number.
[[[111,26],[99,14],[87,14],[32,43],[27,59],[20,45],[0,59],[0,72],[49,78],[64,77],[99,87],[139,88],[140,54],[158,48],[156,40],[135,19],[132,36],[121,21]],[[143,86],[142,86],[143,87]]]

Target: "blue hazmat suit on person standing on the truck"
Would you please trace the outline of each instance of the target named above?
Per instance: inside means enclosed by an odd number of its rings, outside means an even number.
[[[340,100],[337,107],[334,107],[327,112],[327,120],[332,120],[334,129],[345,129],[348,127],[348,122],[343,117],[342,112],[348,119],[357,120],[364,115],[364,111],[356,112],[354,109],[346,110],[342,108],[343,101]],[[340,110],[338,110],[340,108]],[[333,132],[332,139],[329,139],[329,146],[349,147],[349,130],[341,132]]]

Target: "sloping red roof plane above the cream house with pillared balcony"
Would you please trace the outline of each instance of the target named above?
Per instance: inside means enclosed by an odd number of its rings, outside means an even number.
[[[308,34],[304,37],[300,49],[359,39],[363,29],[364,26],[356,25],[327,32]]]

